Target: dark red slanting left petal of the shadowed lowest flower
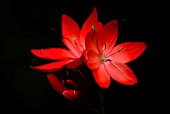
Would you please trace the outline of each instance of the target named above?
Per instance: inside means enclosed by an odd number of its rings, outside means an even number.
[[[61,80],[55,75],[55,74],[47,74],[48,80],[51,84],[51,86],[59,93],[63,93],[63,91],[66,89],[61,83]]]

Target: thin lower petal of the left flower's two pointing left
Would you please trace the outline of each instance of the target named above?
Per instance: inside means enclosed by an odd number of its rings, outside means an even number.
[[[60,70],[64,65],[66,65],[71,61],[72,60],[63,60],[63,61],[52,62],[40,66],[30,66],[30,67],[43,72],[55,72]]]

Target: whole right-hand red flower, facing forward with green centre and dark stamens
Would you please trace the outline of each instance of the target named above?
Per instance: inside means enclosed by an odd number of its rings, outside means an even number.
[[[125,42],[115,46],[118,37],[118,22],[107,23],[97,33],[86,36],[86,64],[92,70],[97,84],[108,88],[110,76],[125,85],[137,83],[133,71],[125,64],[139,57],[146,48],[144,42]],[[115,46],[115,47],[114,47]]]

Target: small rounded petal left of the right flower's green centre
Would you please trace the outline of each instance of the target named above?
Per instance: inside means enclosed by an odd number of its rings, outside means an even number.
[[[99,55],[95,51],[89,50],[86,52],[86,65],[91,70],[96,70],[99,68],[100,58],[99,58]]]

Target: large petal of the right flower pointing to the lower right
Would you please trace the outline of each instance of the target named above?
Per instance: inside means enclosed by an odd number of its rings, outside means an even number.
[[[109,75],[117,82],[125,85],[133,85],[137,83],[133,71],[124,63],[107,61],[104,63]]]

